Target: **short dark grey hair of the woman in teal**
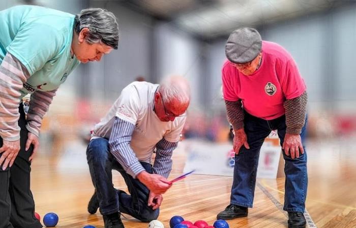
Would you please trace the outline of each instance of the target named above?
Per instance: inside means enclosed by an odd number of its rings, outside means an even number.
[[[74,30],[77,34],[88,28],[85,41],[89,44],[104,43],[117,49],[118,47],[118,24],[113,13],[101,8],[85,9],[75,16]]]

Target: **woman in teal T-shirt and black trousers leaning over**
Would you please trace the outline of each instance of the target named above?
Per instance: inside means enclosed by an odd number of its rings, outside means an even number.
[[[115,16],[37,6],[0,11],[0,228],[42,227],[30,190],[31,160],[57,88],[80,62],[117,49]],[[27,119],[23,96],[31,94]]]

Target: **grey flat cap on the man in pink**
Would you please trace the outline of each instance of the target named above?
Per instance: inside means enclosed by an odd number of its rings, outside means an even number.
[[[233,63],[252,61],[261,52],[261,35],[254,28],[239,28],[231,32],[225,45],[225,55]]]

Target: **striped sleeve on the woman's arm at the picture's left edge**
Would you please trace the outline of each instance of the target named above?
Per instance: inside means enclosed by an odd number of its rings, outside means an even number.
[[[20,89],[29,77],[27,69],[8,52],[0,65],[0,136],[4,140],[20,138]]]

